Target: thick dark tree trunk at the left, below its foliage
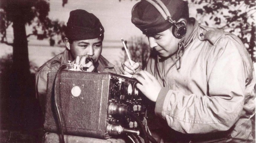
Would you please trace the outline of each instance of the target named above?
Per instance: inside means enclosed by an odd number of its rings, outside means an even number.
[[[15,128],[26,126],[25,106],[29,93],[30,64],[25,22],[20,15],[13,19],[13,66],[11,69],[10,118]]]

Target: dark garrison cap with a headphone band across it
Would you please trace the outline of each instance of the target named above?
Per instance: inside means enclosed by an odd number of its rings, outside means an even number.
[[[183,13],[188,15],[188,3],[183,0],[161,0],[173,20],[177,21]],[[154,0],[154,2],[156,2]],[[157,3],[157,2],[156,2]],[[160,12],[149,2],[141,0],[132,9],[132,23],[143,34],[157,34],[170,28],[173,24],[164,20]]]

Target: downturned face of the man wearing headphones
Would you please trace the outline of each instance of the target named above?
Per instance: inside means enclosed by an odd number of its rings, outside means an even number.
[[[159,56],[168,57],[178,50],[179,39],[174,37],[172,28],[173,26],[161,33],[147,35],[149,46],[154,48]]]

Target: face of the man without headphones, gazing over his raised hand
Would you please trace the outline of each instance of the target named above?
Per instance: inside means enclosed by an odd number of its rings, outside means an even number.
[[[100,38],[88,40],[74,40],[70,43],[70,52],[73,60],[76,56],[88,55],[95,62],[98,61],[102,51],[102,40]]]

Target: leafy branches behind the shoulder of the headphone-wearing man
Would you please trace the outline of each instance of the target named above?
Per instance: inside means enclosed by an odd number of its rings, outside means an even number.
[[[255,0],[188,0],[200,5],[200,24],[237,35],[255,62]]]

